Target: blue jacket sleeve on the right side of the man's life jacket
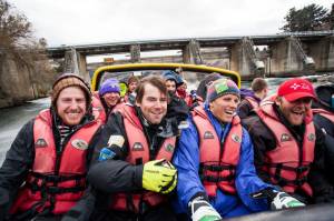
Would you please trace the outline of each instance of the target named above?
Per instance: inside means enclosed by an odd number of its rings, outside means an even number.
[[[236,168],[236,189],[244,204],[252,211],[268,210],[266,199],[253,199],[250,193],[258,192],[272,185],[263,182],[256,174],[254,165],[253,143],[248,132],[243,128],[243,140],[239,163]]]

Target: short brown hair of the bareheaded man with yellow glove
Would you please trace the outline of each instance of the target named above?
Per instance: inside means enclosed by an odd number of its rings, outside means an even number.
[[[151,86],[156,87],[163,94],[165,94],[166,97],[168,96],[168,91],[165,86],[165,80],[158,76],[148,76],[148,77],[143,78],[139,81],[138,87],[136,88],[136,93],[137,93],[136,101],[138,103],[141,103],[146,84],[151,84]]]

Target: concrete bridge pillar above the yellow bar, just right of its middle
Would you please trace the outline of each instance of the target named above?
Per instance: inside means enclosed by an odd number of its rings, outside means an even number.
[[[198,41],[191,39],[183,50],[184,63],[203,64],[200,46]]]

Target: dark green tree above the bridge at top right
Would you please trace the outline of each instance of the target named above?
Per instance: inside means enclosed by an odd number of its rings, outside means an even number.
[[[285,16],[284,31],[318,31],[328,30],[328,10],[322,6],[312,3],[303,9],[292,8]]]

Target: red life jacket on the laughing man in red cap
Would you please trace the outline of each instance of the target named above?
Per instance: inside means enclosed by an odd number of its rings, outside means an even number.
[[[273,103],[266,101],[256,111],[259,119],[273,132],[276,140],[276,148],[266,152],[266,171],[274,184],[281,185],[286,192],[294,193],[297,189],[303,190],[307,195],[313,195],[313,190],[307,183],[310,165],[314,160],[315,128],[312,122],[312,113],[305,119],[306,128],[303,139],[303,147],[294,139],[287,128],[281,123]]]

